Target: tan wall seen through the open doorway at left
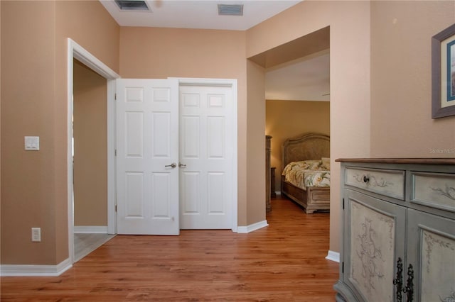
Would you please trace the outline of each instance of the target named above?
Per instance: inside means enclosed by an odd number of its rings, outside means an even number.
[[[74,60],[74,225],[107,225],[107,81]]]

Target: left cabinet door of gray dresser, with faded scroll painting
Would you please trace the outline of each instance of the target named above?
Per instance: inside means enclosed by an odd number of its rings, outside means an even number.
[[[359,301],[395,301],[396,262],[405,256],[406,208],[345,189],[343,281]]]

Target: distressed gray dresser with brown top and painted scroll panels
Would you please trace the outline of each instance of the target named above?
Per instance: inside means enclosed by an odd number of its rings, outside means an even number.
[[[336,162],[336,301],[454,301],[455,158]]]

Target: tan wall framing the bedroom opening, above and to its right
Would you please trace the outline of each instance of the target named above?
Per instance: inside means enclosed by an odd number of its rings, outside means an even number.
[[[370,3],[303,1],[247,30],[247,57],[330,26],[331,159],[370,155]],[[264,103],[265,106],[265,103]],[[364,125],[364,126],[362,126]],[[260,135],[263,133],[257,133]],[[330,250],[339,251],[340,164],[332,162]]]

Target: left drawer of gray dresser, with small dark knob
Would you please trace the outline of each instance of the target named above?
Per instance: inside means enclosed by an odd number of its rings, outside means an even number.
[[[345,184],[405,200],[405,171],[346,167]]]

